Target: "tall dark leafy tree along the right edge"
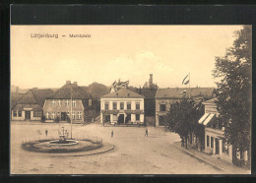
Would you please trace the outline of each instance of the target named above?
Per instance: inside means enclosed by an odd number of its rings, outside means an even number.
[[[252,28],[244,26],[235,32],[232,47],[223,57],[216,57],[215,78],[217,106],[224,125],[224,136],[234,150],[248,152],[251,147],[251,90],[252,90]]]

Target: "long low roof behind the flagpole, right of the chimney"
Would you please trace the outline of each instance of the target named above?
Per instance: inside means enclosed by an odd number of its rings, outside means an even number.
[[[159,89],[156,93],[156,98],[182,98],[183,94],[180,94],[182,91],[187,91],[190,93],[191,97],[195,96],[212,96],[215,88],[168,88],[168,89]]]

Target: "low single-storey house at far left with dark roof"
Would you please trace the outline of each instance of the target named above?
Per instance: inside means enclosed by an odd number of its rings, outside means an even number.
[[[52,90],[37,90],[33,88],[27,91],[18,101],[11,98],[12,120],[41,120],[44,99],[53,93]],[[13,97],[14,94],[11,94]],[[17,95],[17,93],[16,93]],[[20,94],[19,94],[20,95]]]

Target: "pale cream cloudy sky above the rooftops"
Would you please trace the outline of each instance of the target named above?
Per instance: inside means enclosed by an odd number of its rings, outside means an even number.
[[[67,80],[160,88],[216,87],[215,57],[224,56],[241,26],[11,26],[11,85],[60,88]],[[58,38],[34,37],[58,34]],[[90,37],[69,37],[69,34]],[[66,36],[62,36],[66,35]]]

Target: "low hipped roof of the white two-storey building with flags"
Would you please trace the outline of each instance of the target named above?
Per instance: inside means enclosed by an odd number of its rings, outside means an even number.
[[[138,94],[137,92],[121,88],[119,91],[113,91],[108,94],[102,95],[101,98],[144,98],[143,95]]]

